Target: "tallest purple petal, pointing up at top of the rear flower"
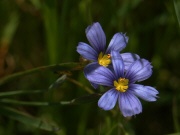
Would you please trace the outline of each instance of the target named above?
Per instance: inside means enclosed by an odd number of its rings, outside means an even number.
[[[93,23],[86,28],[86,37],[98,53],[104,52],[106,46],[106,36],[98,22]]]

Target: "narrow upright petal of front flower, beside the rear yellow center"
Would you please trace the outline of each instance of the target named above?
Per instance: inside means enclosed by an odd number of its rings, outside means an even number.
[[[124,77],[124,63],[119,52],[111,51],[111,60],[116,78]]]

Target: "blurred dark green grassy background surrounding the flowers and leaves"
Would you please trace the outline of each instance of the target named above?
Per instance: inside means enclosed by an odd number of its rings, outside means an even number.
[[[160,94],[157,102],[141,100],[143,112],[132,118],[123,118],[118,107],[103,111],[97,102],[64,106],[0,103],[55,125],[53,131],[39,129],[31,126],[33,121],[23,124],[22,119],[17,121],[0,109],[0,135],[180,134],[178,21],[179,0],[1,0],[0,79],[39,66],[79,62],[78,42],[88,43],[86,27],[99,22],[107,44],[115,33],[126,33],[129,42],[123,52],[137,53],[152,62],[153,75],[142,84],[155,87]],[[0,92],[47,89],[59,76],[51,71],[29,74],[1,84]],[[96,92],[82,70],[77,70],[53,90],[8,99],[70,101],[90,94],[89,89]]]

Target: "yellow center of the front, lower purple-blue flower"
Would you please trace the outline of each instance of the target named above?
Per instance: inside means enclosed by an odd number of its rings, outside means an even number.
[[[129,83],[128,79],[119,78],[118,81],[114,81],[114,86],[116,90],[120,92],[126,92],[126,90],[128,89],[128,83]]]

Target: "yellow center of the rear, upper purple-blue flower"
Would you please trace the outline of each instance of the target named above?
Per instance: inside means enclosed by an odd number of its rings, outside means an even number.
[[[98,57],[99,65],[107,67],[111,63],[111,59],[110,58],[111,58],[110,54],[103,55],[103,53],[101,52],[99,54],[99,57]]]

